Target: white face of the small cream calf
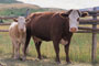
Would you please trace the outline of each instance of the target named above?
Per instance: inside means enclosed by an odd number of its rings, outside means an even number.
[[[21,32],[25,32],[26,29],[25,29],[25,18],[24,16],[18,18],[18,25]]]

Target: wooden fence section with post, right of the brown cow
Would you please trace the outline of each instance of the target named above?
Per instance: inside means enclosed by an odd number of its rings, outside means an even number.
[[[99,15],[99,11],[94,8],[94,11],[89,12],[89,15],[92,16],[91,20],[80,20],[80,24],[91,24],[92,28],[79,28],[78,33],[92,33],[92,44],[91,44],[91,62],[96,62],[96,50],[97,50],[97,33],[99,33],[99,29],[97,25],[99,24],[99,20],[97,19]]]

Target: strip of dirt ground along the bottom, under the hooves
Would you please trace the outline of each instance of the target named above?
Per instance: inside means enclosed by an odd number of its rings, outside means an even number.
[[[56,64],[54,59],[42,59],[28,57],[25,62],[15,61],[11,57],[2,57],[0,58],[0,66],[99,66],[99,64],[91,63],[75,63],[66,64],[65,61],[62,61],[61,64]]]

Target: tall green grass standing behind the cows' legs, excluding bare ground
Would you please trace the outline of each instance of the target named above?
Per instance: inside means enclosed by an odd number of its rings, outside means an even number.
[[[32,40],[29,47],[30,47],[29,54],[33,57],[36,57],[35,45]],[[42,47],[41,48],[42,55],[51,59],[55,57],[52,42],[43,42],[41,47]],[[3,54],[11,55],[11,50],[12,50],[12,44],[9,37],[9,33],[0,33],[0,53],[1,53],[0,55]],[[99,50],[97,48],[97,58],[99,58],[98,51]],[[91,54],[91,34],[87,34],[87,33],[74,34],[70,43],[70,53],[69,53],[70,59],[73,62],[90,62],[90,54]],[[61,58],[65,61],[65,52],[63,45],[61,45]]]

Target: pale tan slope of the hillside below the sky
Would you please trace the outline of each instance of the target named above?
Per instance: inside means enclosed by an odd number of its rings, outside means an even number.
[[[38,6],[35,6],[35,4],[29,4],[29,3],[7,3],[7,4],[3,4],[3,3],[0,3],[0,10],[3,10],[3,9],[22,9],[22,8],[29,8],[29,9],[46,9],[48,11],[63,11],[63,9],[58,9],[58,8],[41,8]]]

